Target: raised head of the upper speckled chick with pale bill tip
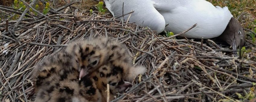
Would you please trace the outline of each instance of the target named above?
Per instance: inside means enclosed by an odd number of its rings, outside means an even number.
[[[98,44],[98,39],[78,41],[67,46],[78,64],[79,79],[90,74],[106,61],[105,46]]]

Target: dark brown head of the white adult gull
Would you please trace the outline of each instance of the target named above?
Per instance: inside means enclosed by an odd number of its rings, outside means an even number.
[[[243,46],[245,44],[244,29],[234,17],[230,19],[225,31],[219,38],[231,45],[233,50],[236,50],[238,46]]]

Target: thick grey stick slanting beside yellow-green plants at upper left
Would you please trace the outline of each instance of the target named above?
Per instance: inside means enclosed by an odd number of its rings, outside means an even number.
[[[14,24],[14,27],[12,28],[12,30],[14,31],[13,33],[15,33],[15,31],[16,31],[18,25],[20,24],[21,20],[22,20],[23,17],[26,15],[27,10],[29,9],[28,6],[33,5],[37,0],[32,1],[29,5],[27,4],[27,2],[25,2],[25,1],[23,1],[23,0],[21,0],[21,1],[22,1],[24,4],[27,5],[27,8],[24,10],[24,12],[21,14],[20,18],[19,18],[19,19],[17,20],[17,22]],[[31,7],[31,6],[30,6],[30,7]],[[32,7],[31,7],[31,8],[32,8]],[[32,9],[33,9],[33,8],[32,8]],[[38,11],[37,11],[37,12],[38,12]]]

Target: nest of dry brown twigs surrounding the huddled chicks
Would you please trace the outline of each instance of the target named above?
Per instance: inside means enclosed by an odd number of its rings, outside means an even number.
[[[98,15],[96,11],[90,14],[74,9],[70,5],[76,2],[50,10],[46,16],[28,13],[26,18],[0,23],[1,101],[34,101],[30,77],[33,66],[72,41],[97,37],[126,44],[133,64],[147,68],[133,87],[114,101],[236,101],[242,99],[235,93],[255,94],[255,46],[248,53],[250,59],[234,57],[232,50],[212,40],[155,35],[150,29],[109,13]],[[4,6],[0,10],[26,13]]]

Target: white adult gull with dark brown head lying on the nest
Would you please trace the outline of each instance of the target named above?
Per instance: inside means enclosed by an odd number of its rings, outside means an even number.
[[[177,34],[197,23],[196,27],[184,34],[185,37],[209,39],[223,33],[221,39],[233,49],[245,43],[243,28],[232,16],[228,7],[215,7],[205,0],[104,0],[104,2],[113,16],[121,16],[133,10],[130,22],[149,27],[158,34],[163,30]],[[127,20],[128,17],[129,15],[125,15],[123,18]],[[165,27],[166,23],[169,25]]]

